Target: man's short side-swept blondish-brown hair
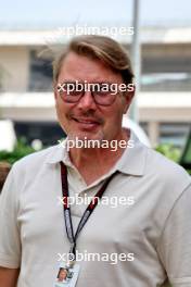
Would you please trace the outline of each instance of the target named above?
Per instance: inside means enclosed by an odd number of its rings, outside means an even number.
[[[93,60],[100,60],[122,75],[125,84],[131,84],[133,73],[128,52],[115,40],[98,35],[74,37],[53,62],[53,82],[56,83],[66,55],[75,52]]]

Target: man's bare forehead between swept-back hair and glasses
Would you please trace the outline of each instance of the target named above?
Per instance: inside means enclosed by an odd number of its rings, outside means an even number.
[[[59,82],[61,80],[87,80],[122,83],[119,73],[114,72],[100,60],[92,60],[74,52],[68,53],[61,65]]]

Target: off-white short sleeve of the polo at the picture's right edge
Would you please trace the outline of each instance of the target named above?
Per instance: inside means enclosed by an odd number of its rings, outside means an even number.
[[[181,192],[166,220],[158,254],[174,287],[191,286],[191,185]]]

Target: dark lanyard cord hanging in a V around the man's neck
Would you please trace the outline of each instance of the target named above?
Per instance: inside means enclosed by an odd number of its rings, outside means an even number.
[[[72,245],[69,253],[73,253],[74,257],[76,255],[76,241],[79,233],[81,232],[82,227],[87,223],[89,216],[98,205],[98,201],[102,198],[107,185],[112,180],[112,178],[118,173],[117,171],[113,173],[103,184],[103,186],[99,189],[99,191],[96,194],[87,209],[85,210],[82,217],[80,219],[80,222],[78,224],[76,234],[74,234],[73,228],[73,222],[71,216],[71,208],[68,204],[68,182],[67,182],[67,169],[63,162],[60,162],[61,164],[61,180],[62,180],[62,195],[63,195],[63,208],[64,208],[64,220],[65,220],[65,229],[67,234],[67,238]]]

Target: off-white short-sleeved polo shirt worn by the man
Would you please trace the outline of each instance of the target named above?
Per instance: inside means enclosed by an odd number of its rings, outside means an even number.
[[[86,258],[78,261],[77,287],[154,287],[167,277],[174,287],[191,286],[190,176],[132,133],[130,139],[135,147],[90,186],[61,146],[14,164],[0,197],[0,265],[21,267],[17,287],[53,287],[61,254],[69,250],[60,161],[67,165],[69,196],[78,199],[119,172],[104,194],[110,204],[98,204],[79,234],[77,251]],[[114,207],[114,198],[131,200]],[[71,207],[75,230],[86,205]]]

